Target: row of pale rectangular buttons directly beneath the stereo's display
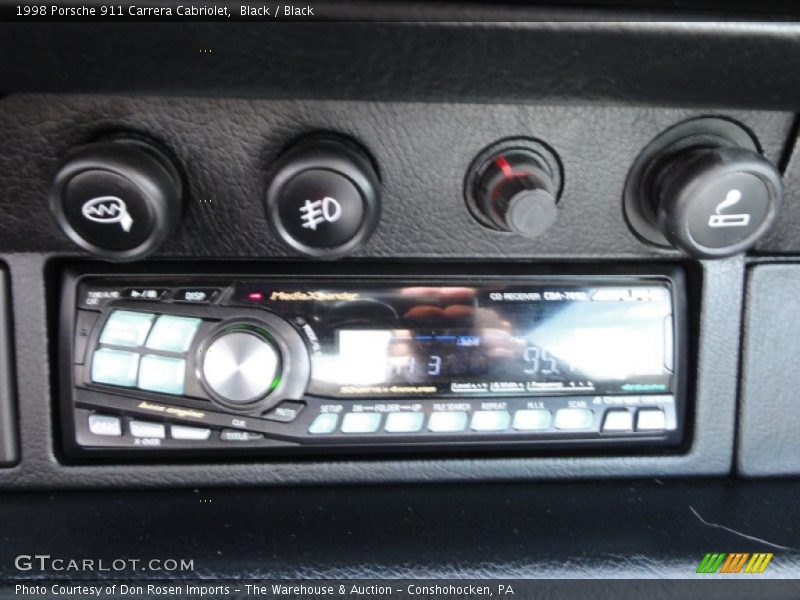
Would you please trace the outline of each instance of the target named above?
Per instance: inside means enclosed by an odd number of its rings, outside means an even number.
[[[660,408],[640,408],[609,410],[606,412],[602,431],[632,432],[663,431],[666,429],[666,415]],[[341,419],[341,433],[377,433],[381,427],[382,414],[377,412],[345,413]],[[561,408],[553,413],[547,409],[523,409],[514,413],[506,410],[479,410],[433,412],[428,418],[428,431],[433,433],[454,433],[467,429],[472,431],[506,431],[509,426],[516,431],[587,431],[594,428],[595,412],[590,408]],[[339,415],[323,413],[318,415],[308,428],[308,433],[324,435],[334,433],[339,425]],[[425,413],[396,412],[386,415],[383,431],[387,433],[417,433],[425,425]]]

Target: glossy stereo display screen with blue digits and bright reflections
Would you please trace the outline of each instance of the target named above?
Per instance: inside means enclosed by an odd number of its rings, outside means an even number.
[[[257,291],[253,291],[257,290]],[[311,350],[311,395],[663,394],[672,389],[667,282],[240,290],[289,317]]]

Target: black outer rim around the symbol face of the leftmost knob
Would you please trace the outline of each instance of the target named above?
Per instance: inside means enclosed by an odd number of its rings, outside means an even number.
[[[98,246],[69,222],[63,205],[67,185],[89,171],[121,175],[147,199],[153,225],[140,244],[126,250]],[[165,150],[149,140],[120,136],[88,144],[67,156],[53,180],[49,204],[59,226],[76,245],[105,260],[131,262],[150,256],[167,240],[180,221],[182,197],[180,172]]]

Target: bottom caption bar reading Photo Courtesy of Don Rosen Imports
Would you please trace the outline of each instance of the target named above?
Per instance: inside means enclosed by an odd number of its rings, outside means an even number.
[[[787,580],[580,580],[580,579],[419,579],[419,580],[28,580],[0,583],[3,598],[180,599],[398,599],[472,600],[477,598],[793,598],[800,583]]]

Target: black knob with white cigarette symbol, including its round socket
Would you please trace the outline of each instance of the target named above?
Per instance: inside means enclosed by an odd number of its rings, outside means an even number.
[[[774,223],[782,200],[780,173],[753,138],[715,118],[687,121],[656,138],[625,189],[637,233],[698,258],[750,248]]]

